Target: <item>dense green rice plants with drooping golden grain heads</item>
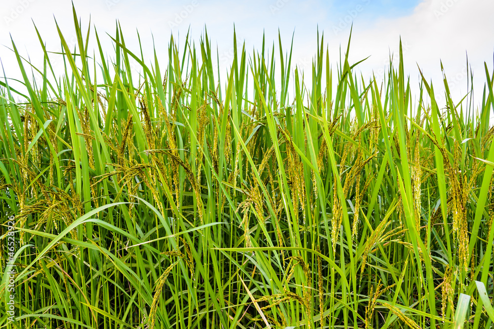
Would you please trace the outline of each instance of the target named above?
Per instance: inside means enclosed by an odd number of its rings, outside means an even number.
[[[163,69],[74,18],[64,76],[12,43],[25,92],[0,82],[1,328],[492,325],[487,66],[478,108],[446,78],[415,103],[401,51],[381,84],[321,37],[304,81],[235,41],[221,85],[207,34]]]

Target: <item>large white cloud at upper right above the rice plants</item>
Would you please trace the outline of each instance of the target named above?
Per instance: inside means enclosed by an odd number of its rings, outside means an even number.
[[[369,76],[372,68],[387,61],[389,51],[394,53],[397,64],[401,36],[408,48],[404,51],[405,73],[411,75],[413,89],[418,89],[418,64],[424,76],[432,78],[437,89],[442,90],[442,60],[450,87],[453,87],[453,100],[459,101],[460,95],[467,91],[467,53],[479,97],[486,79],[484,61],[492,73],[493,13],[493,1],[422,1],[409,16],[381,18],[373,23],[358,22],[354,27],[350,57],[356,61],[371,55],[367,63],[360,66],[364,76]]]

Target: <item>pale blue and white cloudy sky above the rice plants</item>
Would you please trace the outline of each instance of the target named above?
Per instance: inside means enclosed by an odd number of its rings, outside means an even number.
[[[278,46],[280,31],[286,50],[293,36],[292,65],[307,71],[311,70],[317,52],[317,32],[324,33],[324,47],[329,49],[334,68],[339,62],[340,46],[342,51],[346,49],[353,24],[349,61],[352,64],[370,56],[355,71],[366,80],[372,74],[377,79],[383,78],[390,54],[397,62],[400,37],[412,90],[418,90],[418,68],[441,88],[442,61],[453,101],[458,102],[466,94],[470,69],[474,74],[475,99],[481,101],[486,81],[484,63],[493,72],[493,0],[73,0],[73,3],[84,29],[90,19],[91,29],[98,31],[109,54],[113,52],[113,44],[106,33],[113,36],[118,21],[127,46],[136,52],[139,51],[136,31],[139,32],[144,57],[149,61],[153,59],[153,38],[159,59],[165,62],[171,34],[180,42],[190,29],[198,42],[206,27],[212,44],[217,46],[219,65],[227,70],[233,61],[235,27],[237,40],[245,40],[250,53],[261,47],[263,34],[270,46],[273,41]],[[75,44],[71,1],[2,0],[0,59],[6,76],[20,78],[15,56],[9,50],[11,37],[21,55],[29,56],[35,66],[42,68],[43,55],[33,22],[47,50],[61,50],[55,20],[69,45]]]

